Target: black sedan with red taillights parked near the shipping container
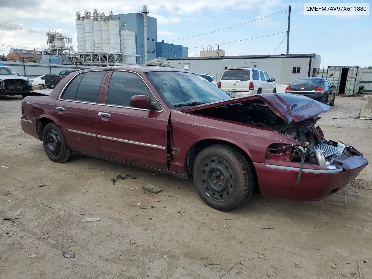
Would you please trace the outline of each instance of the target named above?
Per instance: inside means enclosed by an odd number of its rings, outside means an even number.
[[[336,86],[331,85],[325,77],[300,77],[287,86],[285,93],[307,96],[333,106]]]

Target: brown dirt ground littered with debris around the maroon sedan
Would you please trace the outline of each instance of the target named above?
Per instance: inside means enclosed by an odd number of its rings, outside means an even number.
[[[318,123],[327,138],[352,143],[372,161],[372,121],[355,119],[361,98],[336,97]],[[22,132],[21,101],[0,100],[0,165],[9,167],[0,167],[0,214],[17,218],[0,221],[1,278],[218,279],[258,256],[265,257],[223,278],[359,278],[357,260],[372,277],[371,190],[347,186],[319,202],[256,194],[245,207],[220,212],[201,201],[191,180],[82,155],[52,163],[42,143]],[[371,168],[358,178],[372,179]],[[114,186],[118,174],[137,179]],[[149,183],[163,191],[142,193]]]

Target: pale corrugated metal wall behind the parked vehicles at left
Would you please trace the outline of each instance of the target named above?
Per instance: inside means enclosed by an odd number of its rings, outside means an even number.
[[[45,74],[58,74],[62,70],[94,68],[92,66],[62,65],[62,64],[43,64],[43,63],[23,63],[13,61],[0,61],[4,65],[12,67],[20,76],[38,77]]]

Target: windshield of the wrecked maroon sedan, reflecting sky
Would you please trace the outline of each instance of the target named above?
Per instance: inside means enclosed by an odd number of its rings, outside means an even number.
[[[201,105],[231,97],[197,74],[176,71],[148,72],[147,77],[170,108]]]

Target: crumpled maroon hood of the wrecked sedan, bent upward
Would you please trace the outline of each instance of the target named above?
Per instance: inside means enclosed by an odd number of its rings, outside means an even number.
[[[194,112],[206,108],[214,108],[218,106],[231,105],[241,102],[249,102],[260,100],[280,118],[286,122],[300,122],[308,118],[313,118],[320,113],[326,112],[330,106],[325,105],[317,100],[310,99],[305,96],[290,94],[290,93],[266,93],[255,94],[246,97],[231,98],[214,103],[193,106],[187,109],[182,109],[182,112]]]

